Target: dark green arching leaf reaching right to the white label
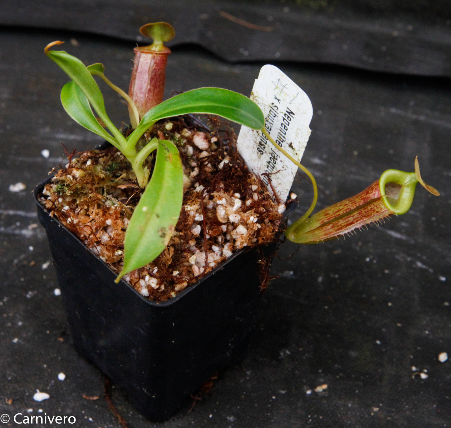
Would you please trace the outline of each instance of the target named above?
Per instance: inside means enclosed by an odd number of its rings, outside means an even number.
[[[128,137],[127,146],[136,145],[139,137],[157,120],[188,113],[217,114],[253,129],[265,125],[262,110],[248,97],[221,88],[199,88],[176,95],[150,109]]]

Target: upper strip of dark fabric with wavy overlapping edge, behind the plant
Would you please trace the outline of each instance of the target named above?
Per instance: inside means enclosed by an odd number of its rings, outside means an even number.
[[[166,21],[177,32],[169,46],[194,43],[233,62],[314,62],[451,76],[448,0],[2,0],[0,7],[0,24],[139,42],[137,28]]]

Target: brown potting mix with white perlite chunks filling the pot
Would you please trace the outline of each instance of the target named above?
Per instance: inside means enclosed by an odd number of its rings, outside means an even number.
[[[184,165],[182,210],[166,249],[124,280],[143,296],[165,301],[234,251],[275,241],[286,206],[249,172],[230,127],[210,133],[188,126],[183,118],[166,120],[147,132],[142,144],[155,136],[179,146]],[[147,159],[151,174],[152,161],[153,155]],[[70,156],[46,185],[41,203],[119,273],[125,231],[142,191],[129,161],[109,147]]]

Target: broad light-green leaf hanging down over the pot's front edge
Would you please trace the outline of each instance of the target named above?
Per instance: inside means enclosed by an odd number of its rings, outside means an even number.
[[[161,140],[155,168],[146,190],[130,219],[124,240],[124,267],[116,282],[126,273],[152,262],[172,236],[183,200],[183,167],[177,147]]]

